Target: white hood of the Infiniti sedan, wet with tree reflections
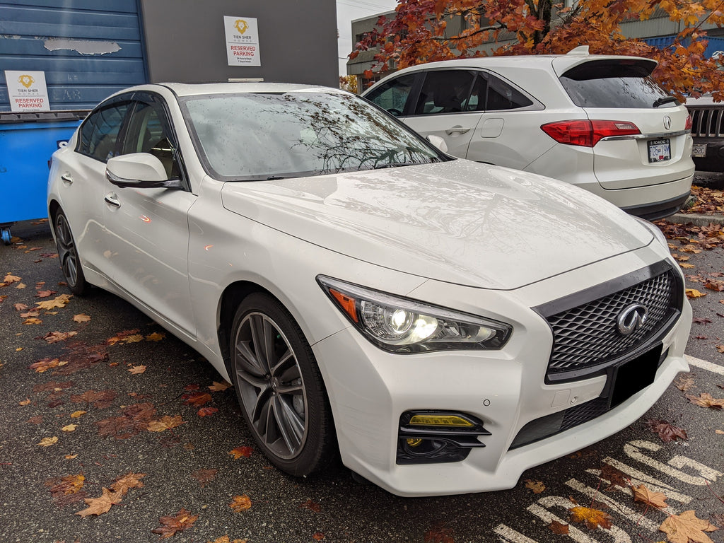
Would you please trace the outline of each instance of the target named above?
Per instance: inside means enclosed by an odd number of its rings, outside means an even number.
[[[420,277],[509,290],[633,251],[651,232],[563,182],[466,160],[227,182],[226,209]]]

